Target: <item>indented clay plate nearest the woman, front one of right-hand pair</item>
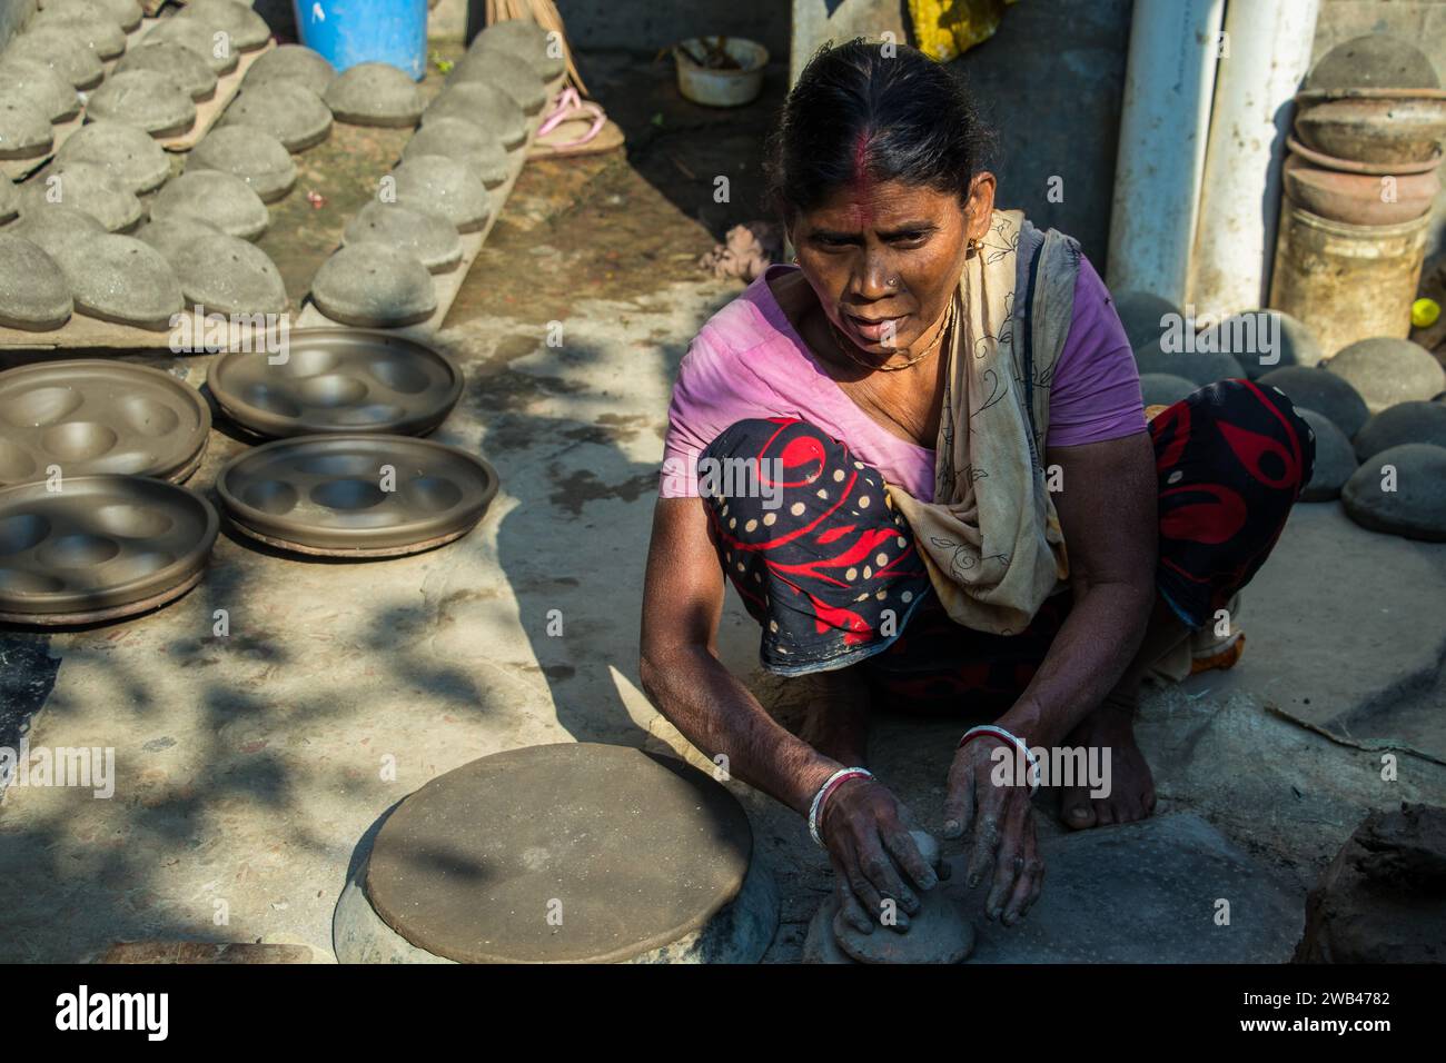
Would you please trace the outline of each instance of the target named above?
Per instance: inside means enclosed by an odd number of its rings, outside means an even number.
[[[490,463],[406,435],[301,435],[215,477],[239,531],[325,557],[396,557],[466,535],[497,493]]]

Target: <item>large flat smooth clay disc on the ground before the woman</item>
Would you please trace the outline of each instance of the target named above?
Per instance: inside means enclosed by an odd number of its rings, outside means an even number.
[[[675,942],[739,892],[753,839],[709,775],[626,746],[483,756],[376,834],[366,892],[412,944],[463,963],[606,963]]]

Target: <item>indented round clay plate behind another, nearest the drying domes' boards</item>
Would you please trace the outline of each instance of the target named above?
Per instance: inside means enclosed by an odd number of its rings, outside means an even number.
[[[283,354],[223,354],[207,385],[233,421],[269,438],[422,435],[457,405],[461,370],[441,351],[401,336],[294,328]]]

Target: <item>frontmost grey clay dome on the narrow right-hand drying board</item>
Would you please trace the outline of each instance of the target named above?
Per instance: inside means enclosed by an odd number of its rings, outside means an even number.
[[[416,324],[437,309],[427,266],[380,243],[348,244],[321,263],[311,298],[333,321],[363,328]]]

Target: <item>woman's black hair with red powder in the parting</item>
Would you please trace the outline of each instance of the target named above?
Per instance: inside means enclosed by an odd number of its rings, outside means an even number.
[[[863,38],[824,45],[768,146],[768,198],[785,224],[834,189],[904,181],[969,197],[993,146],[963,77],[915,48]]]

